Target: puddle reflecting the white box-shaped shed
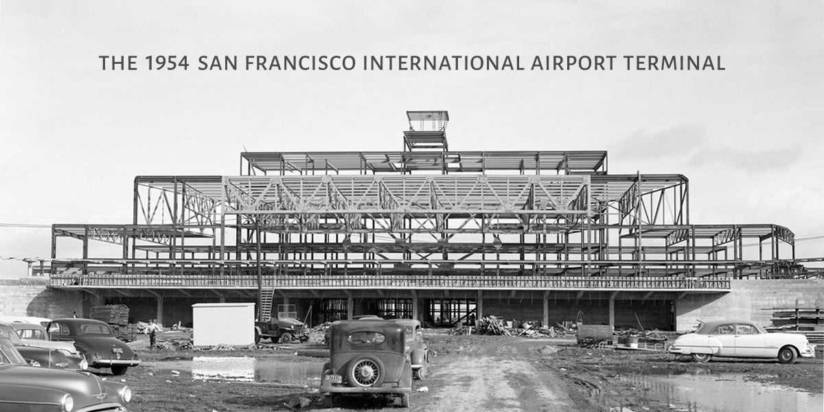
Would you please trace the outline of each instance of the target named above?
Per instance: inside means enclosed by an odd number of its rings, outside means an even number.
[[[322,363],[283,363],[250,357],[199,356],[192,360],[152,362],[149,366],[191,374],[194,381],[269,382],[319,386]],[[174,372],[171,372],[174,374]]]

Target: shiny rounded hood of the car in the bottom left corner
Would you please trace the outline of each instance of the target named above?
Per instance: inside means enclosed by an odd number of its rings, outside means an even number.
[[[35,368],[25,365],[0,366],[0,383],[39,386],[68,392],[75,407],[100,403],[106,398],[106,387],[100,377],[88,372]],[[116,392],[116,388],[112,388]],[[78,408],[79,409],[79,408]]]

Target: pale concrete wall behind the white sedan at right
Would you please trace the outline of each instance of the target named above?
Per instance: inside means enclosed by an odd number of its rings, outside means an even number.
[[[824,306],[824,279],[742,279],[732,292],[686,295],[676,304],[676,330],[689,330],[696,321],[746,319],[770,325],[768,308]]]

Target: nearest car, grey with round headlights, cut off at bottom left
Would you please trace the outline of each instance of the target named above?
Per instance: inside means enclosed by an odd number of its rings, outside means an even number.
[[[88,372],[33,368],[0,337],[0,412],[115,412],[132,399],[132,390]]]

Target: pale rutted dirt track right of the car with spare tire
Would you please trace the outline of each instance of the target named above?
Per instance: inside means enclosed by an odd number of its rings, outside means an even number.
[[[439,389],[428,410],[577,411],[559,378],[531,363],[534,355],[528,353],[528,346],[477,349],[473,352],[482,353],[455,356],[442,363],[431,375]]]

